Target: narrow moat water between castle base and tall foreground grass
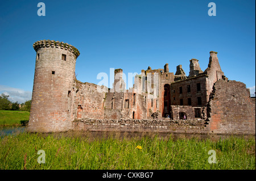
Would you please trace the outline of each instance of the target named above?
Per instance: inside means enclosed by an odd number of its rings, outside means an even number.
[[[26,127],[0,127],[0,137],[7,135],[16,135],[19,133],[27,132]],[[188,134],[188,133],[153,133],[153,132],[99,132],[99,131],[68,131],[61,133],[40,133],[42,136],[53,135],[56,137],[85,137],[93,140],[94,138],[142,138],[142,137],[155,137],[158,136],[163,139],[169,139],[170,137],[174,140],[178,138],[198,138],[199,140],[219,140],[220,138],[228,138],[232,135],[229,134]],[[255,135],[241,135],[236,137],[251,138]]]

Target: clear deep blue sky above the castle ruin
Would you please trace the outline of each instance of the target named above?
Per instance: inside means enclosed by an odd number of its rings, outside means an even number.
[[[46,16],[38,16],[39,2]],[[209,2],[216,16],[209,16]],[[189,74],[196,58],[205,70],[209,52],[218,52],[221,69],[231,80],[255,91],[255,1],[1,1],[0,92],[11,100],[31,98],[38,40],[56,40],[80,51],[76,74],[98,83],[110,68],[128,73],[181,64]]]

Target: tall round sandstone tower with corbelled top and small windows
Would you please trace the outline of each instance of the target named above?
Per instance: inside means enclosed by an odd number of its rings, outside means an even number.
[[[72,87],[79,50],[67,43],[40,40],[36,51],[30,132],[60,132],[72,128]]]

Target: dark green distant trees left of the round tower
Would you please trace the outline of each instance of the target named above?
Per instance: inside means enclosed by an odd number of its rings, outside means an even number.
[[[0,110],[13,110],[13,111],[29,111],[31,108],[31,100],[27,100],[24,103],[11,102],[9,95],[0,95]]]

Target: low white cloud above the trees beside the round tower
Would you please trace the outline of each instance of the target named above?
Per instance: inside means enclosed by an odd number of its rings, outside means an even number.
[[[27,100],[31,100],[32,98],[31,91],[24,91],[22,89],[17,89],[14,87],[3,86],[3,85],[0,85],[0,94],[9,95],[9,100],[11,102],[18,101],[18,103],[24,103]]]

